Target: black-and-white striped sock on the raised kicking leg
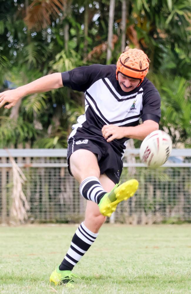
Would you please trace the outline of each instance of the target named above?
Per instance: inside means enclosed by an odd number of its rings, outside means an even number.
[[[87,200],[91,200],[99,204],[105,191],[103,190],[100,181],[96,177],[88,177],[80,185],[80,193]]]

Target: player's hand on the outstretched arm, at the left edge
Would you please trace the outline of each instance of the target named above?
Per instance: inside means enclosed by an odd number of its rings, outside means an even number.
[[[0,93],[0,108],[5,103],[9,103],[5,105],[5,108],[7,109],[11,108],[12,106],[15,106],[15,104],[19,101],[21,97],[21,93],[19,93],[17,89],[7,90]]]

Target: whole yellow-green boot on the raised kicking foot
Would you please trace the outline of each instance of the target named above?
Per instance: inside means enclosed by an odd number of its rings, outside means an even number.
[[[136,192],[139,183],[137,180],[129,180],[119,186],[116,184],[111,192],[106,193],[98,204],[100,213],[103,216],[111,216],[112,212],[115,211],[117,205],[128,198],[132,197]]]

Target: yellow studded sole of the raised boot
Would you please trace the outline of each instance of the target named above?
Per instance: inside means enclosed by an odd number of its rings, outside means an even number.
[[[114,193],[116,200],[104,205],[103,199],[103,203],[100,203],[99,206],[100,213],[103,214],[103,216],[111,216],[111,214],[115,211],[116,207],[121,201],[127,200],[135,194],[135,192],[138,189],[138,186],[138,181],[132,179],[115,188]],[[108,195],[105,195],[103,197],[108,197]]]

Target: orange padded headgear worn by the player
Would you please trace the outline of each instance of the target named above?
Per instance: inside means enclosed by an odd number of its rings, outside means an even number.
[[[117,62],[116,78],[118,73],[122,73],[130,78],[140,79],[142,83],[144,77],[148,73],[149,59],[148,56],[139,49],[128,49],[124,51]]]

